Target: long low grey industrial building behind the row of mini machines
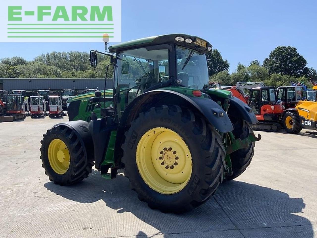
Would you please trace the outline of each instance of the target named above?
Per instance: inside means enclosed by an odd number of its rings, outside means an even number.
[[[0,78],[0,90],[35,89],[103,89],[104,78]],[[113,79],[107,79],[107,89],[113,88]]]

